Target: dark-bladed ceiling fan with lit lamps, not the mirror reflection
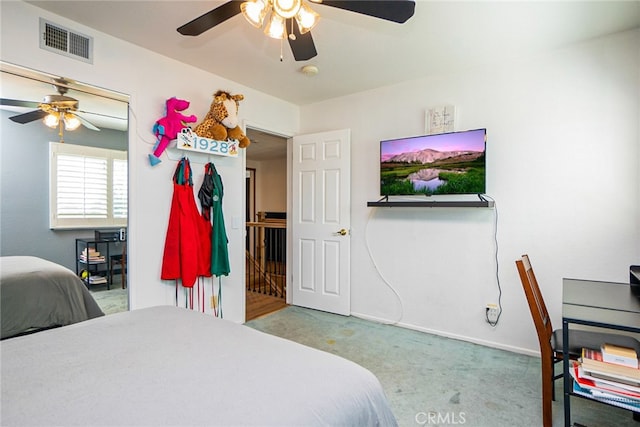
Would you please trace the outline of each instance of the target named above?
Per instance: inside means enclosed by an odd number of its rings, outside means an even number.
[[[387,21],[404,23],[413,16],[414,0],[309,0]],[[210,10],[204,15],[184,24],[178,32],[185,36],[197,36],[242,13],[257,28],[267,19],[265,34],[270,37],[287,38],[296,61],[306,61],[318,53],[311,37],[319,15],[305,0],[232,0]],[[269,15],[271,13],[271,15]]]

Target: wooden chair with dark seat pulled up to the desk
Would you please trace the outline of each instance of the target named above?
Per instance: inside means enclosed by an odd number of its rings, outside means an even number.
[[[547,306],[538,287],[538,281],[533,273],[528,255],[516,261],[520,281],[524,289],[531,317],[538,333],[540,343],[540,357],[542,362],[542,422],[544,427],[551,427],[551,401],[555,400],[554,381],[562,378],[562,374],[555,374],[555,364],[562,361],[563,342],[562,329],[554,330]],[[582,348],[599,349],[603,343],[611,343],[623,347],[633,347],[640,351],[640,342],[633,337],[600,333],[592,331],[571,330],[568,353],[571,359],[577,359]]]

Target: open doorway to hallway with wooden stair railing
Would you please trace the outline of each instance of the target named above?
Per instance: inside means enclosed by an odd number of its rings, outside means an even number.
[[[286,307],[287,139],[247,128],[247,321]]]

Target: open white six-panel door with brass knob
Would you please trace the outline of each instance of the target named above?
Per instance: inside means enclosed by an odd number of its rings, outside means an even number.
[[[348,129],[293,138],[292,304],[351,313]]]

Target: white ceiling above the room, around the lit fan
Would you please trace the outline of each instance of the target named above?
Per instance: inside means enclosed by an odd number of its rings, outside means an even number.
[[[405,24],[311,4],[321,15],[312,30],[318,55],[296,62],[286,42],[280,61],[280,41],[241,15],[196,37],[176,31],[224,1],[27,3],[296,105],[640,27],[638,1],[417,0]],[[304,65],[317,66],[319,73],[304,75]]]

